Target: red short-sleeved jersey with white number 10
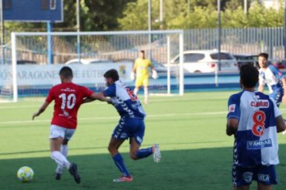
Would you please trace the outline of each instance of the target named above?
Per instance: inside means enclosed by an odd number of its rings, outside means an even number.
[[[68,129],[77,128],[77,115],[83,98],[90,97],[94,92],[72,82],[56,85],[48,92],[46,102],[55,101],[52,125]]]

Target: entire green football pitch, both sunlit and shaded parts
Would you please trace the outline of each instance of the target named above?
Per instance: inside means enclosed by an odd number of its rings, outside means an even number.
[[[49,157],[49,124],[53,102],[32,121],[43,98],[0,104],[0,190],[231,190],[233,136],[225,134],[227,99],[234,93],[193,92],[184,96],[150,97],[142,147],[158,143],[161,162],[152,157],[132,161],[126,141],[120,151],[133,175],[131,183],[114,183],[120,173],[107,145],[119,117],[106,103],[92,102],[79,109],[78,130],[69,143],[69,161],[79,165],[81,183],[68,171],[54,179],[56,164]],[[143,99],[143,97],[139,97]],[[143,102],[143,101],[142,101]],[[286,117],[286,106],[281,106]],[[278,185],[286,190],[286,135],[278,134]],[[21,166],[34,171],[31,183],[21,183]],[[256,189],[253,185],[251,190]]]

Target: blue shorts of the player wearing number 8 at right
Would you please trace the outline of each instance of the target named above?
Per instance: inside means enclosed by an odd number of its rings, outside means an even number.
[[[233,164],[232,182],[233,187],[248,186],[255,180],[264,185],[276,185],[277,177],[275,165],[258,165],[255,167],[242,167]]]

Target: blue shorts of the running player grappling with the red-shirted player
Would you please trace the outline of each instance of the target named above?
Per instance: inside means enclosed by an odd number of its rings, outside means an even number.
[[[118,140],[134,137],[138,145],[141,145],[143,142],[144,132],[144,119],[122,117],[111,136]]]

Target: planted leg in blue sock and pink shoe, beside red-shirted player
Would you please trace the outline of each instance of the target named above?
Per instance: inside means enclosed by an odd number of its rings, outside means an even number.
[[[116,167],[122,173],[121,177],[113,179],[114,182],[130,182],[133,180],[132,176],[127,171],[121,154],[118,151],[124,141],[125,139],[115,139],[112,137],[108,146],[108,151],[110,152]]]

